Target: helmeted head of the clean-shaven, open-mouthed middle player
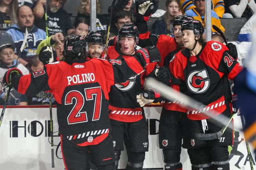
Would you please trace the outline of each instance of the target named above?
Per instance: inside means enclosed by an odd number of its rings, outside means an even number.
[[[133,24],[125,24],[119,29],[117,43],[121,46],[121,51],[125,55],[135,52],[135,46],[139,43],[139,30]]]

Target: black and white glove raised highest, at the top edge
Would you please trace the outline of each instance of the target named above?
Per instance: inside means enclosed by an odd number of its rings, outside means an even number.
[[[154,3],[151,0],[138,0],[136,2],[137,19],[141,21],[149,21],[154,11]]]

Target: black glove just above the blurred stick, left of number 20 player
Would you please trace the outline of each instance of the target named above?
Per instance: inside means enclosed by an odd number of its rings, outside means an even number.
[[[165,66],[158,68],[158,71],[156,72],[156,76],[157,76],[156,79],[158,81],[161,81],[166,85],[170,85],[173,79],[169,68]]]

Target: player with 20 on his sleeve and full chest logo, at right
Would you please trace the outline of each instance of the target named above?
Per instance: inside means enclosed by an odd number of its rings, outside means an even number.
[[[231,91],[228,79],[232,80],[240,71],[239,63],[233,59],[228,48],[216,41],[203,41],[203,25],[200,21],[187,21],[181,25],[185,49],[173,56],[169,67],[172,83],[186,83],[181,92],[207,105],[220,114],[232,114]],[[216,115],[218,116],[218,115]],[[183,147],[188,149],[192,170],[229,170],[228,145],[233,144],[233,132],[225,131],[219,139],[203,141],[196,133],[216,133],[222,127],[208,121],[210,117],[198,110],[187,114]]]

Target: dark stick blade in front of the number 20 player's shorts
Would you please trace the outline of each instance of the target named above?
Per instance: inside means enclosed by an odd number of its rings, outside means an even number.
[[[231,122],[231,120],[233,119],[234,116],[235,116],[235,114],[232,114],[232,116],[230,116],[228,124]],[[227,129],[228,124],[216,133],[196,133],[196,137],[197,137],[197,139],[200,139],[200,140],[203,140],[203,141],[218,139],[224,134],[224,132]]]

